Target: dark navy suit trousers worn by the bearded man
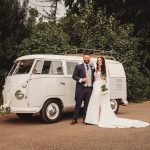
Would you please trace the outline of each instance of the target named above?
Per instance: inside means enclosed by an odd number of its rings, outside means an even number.
[[[75,110],[73,113],[73,119],[77,120],[79,117],[82,102],[84,101],[83,120],[86,117],[86,111],[89,104],[89,100],[92,94],[93,87],[83,87],[80,94],[76,98]]]

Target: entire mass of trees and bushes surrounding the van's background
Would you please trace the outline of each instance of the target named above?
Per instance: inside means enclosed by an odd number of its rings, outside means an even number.
[[[22,6],[19,0],[1,0],[0,87],[5,71],[18,56],[83,47],[113,50],[125,67],[128,100],[150,99],[150,23],[143,17],[149,16],[147,2],[65,0],[69,6],[65,17],[36,24],[38,12],[28,8],[28,0]],[[147,5],[146,9],[140,5]]]

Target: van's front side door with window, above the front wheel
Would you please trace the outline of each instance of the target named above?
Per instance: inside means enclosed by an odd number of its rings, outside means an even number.
[[[62,61],[37,60],[29,81],[29,106],[41,107],[49,98],[65,99]]]

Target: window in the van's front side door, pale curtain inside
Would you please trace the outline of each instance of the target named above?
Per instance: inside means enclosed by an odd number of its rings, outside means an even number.
[[[62,63],[60,61],[44,61],[41,74],[63,75]]]

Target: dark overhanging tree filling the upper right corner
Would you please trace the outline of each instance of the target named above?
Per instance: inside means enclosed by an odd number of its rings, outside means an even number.
[[[149,0],[64,0],[72,13],[80,15],[86,4],[90,4],[95,13],[99,9],[106,12],[107,17],[113,16],[120,24],[133,24],[133,34],[139,38],[139,53],[143,60],[141,70],[150,77],[150,1]],[[146,70],[146,71],[145,71]]]

